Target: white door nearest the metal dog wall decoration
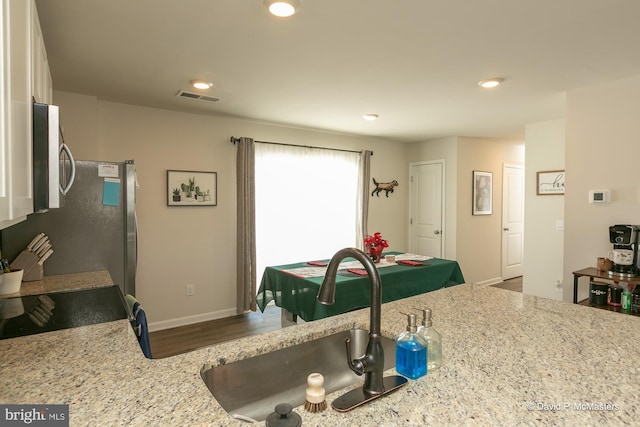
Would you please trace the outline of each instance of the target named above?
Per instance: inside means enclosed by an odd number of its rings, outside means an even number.
[[[444,254],[444,160],[409,166],[409,251],[442,258]]]

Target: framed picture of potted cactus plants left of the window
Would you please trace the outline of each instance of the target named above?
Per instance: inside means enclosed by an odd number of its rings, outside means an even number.
[[[167,171],[167,206],[217,206],[218,174]]]

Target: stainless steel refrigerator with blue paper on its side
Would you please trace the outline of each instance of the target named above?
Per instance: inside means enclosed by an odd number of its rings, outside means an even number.
[[[2,253],[13,260],[38,234],[53,254],[44,274],[108,270],[123,294],[135,296],[137,224],[135,164],[76,160],[75,182],[62,207],[34,213],[2,230]]]

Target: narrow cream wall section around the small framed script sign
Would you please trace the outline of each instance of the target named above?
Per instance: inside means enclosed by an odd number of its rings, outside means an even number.
[[[536,195],[536,172],[564,170],[565,120],[532,123],[525,128],[525,227],[523,292],[562,299],[564,221],[562,195]]]

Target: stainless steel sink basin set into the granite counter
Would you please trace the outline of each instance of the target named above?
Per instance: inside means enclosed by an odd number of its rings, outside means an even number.
[[[262,421],[279,403],[302,405],[307,376],[313,372],[324,375],[327,394],[363,382],[364,377],[349,368],[345,340],[351,338],[352,357],[359,357],[365,353],[368,334],[364,329],[339,332],[208,369],[201,373],[202,379],[229,414]],[[382,346],[384,369],[395,367],[395,341],[383,337]]]

